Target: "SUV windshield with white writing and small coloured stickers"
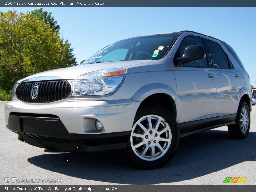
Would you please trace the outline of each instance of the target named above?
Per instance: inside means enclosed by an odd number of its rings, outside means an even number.
[[[178,34],[159,34],[118,41],[96,52],[81,64],[161,59],[177,36]]]

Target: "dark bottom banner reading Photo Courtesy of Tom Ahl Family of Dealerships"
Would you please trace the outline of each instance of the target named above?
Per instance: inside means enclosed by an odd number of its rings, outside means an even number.
[[[82,192],[82,191],[93,191],[93,192],[108,192],[108,191],[118,191],[118,192],[167,192],[167,191],[175,191],[175,192],[183,192],[183,191],[189,191],[189,192],[216,192],[216,191],[223,191],[223,192],[255,192],[256,187],[252,185],[246,185],[246,186],[231,186],[231,185],[210,185],[210,186],[204,186],[204,185],[193,185],[193,186],[177,186],[177,185],[157,185],[157,186],[151,186],[151,185],[144,185],[144,186],[136,186],[136,185],[109,185],[109,186],[95,186],[95,185],[81,185],[81,186],[73,186],[73,185],[56,185],[56,186],[33,186],[33,185],[27,185],[27,186],[15,186],[15,185],[9,185],[4,186],[2,185],[0,187],[0,191],[3,192]]]

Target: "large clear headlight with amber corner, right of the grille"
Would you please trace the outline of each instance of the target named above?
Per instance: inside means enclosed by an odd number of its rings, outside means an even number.
[[[126,69],[115,68],[86,73],[76,78],[72,96],[107,95],[121,84]]]

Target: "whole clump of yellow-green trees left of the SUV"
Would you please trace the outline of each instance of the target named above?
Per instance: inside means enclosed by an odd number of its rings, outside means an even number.
[[[45,22],[40,12],[0,12],[0,90],[9,93],[26,76],[76,65],[73,48],[68,40],[63,43],[51,14],[43,12],[51,21]]]

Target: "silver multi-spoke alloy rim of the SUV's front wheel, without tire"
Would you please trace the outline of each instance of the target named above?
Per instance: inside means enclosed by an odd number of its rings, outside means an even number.
[[[132,127],[131,147],[143,160],[154,161],[164,156],[170,147],[172,133],[164,118],[157,115],[141,117]]]

